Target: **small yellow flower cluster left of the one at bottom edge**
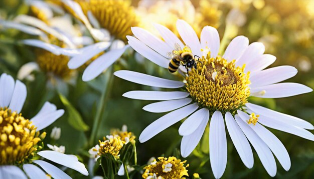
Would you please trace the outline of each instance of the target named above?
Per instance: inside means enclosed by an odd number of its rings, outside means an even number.
[[[99,140],[99,150],[98,154],[103,155],[106,153],[112,154],[115,158],[120,158],[120,149],[122,148],[125,141],[121,140],[120,137],[113,137],[106,140],[104,137],[104,141]]]

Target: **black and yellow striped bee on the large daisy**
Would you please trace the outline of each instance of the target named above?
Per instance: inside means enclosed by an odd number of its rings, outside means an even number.
[[[175,50],[173,50],[173,52],[167,53],[167,55],[171,58],[169,62],[168,70],[169,72],[172,72],[172,73],[178,70],[180,64],[185,66],[189,73],[189,68],[193,66],[196,68],[196,61],[199,61],[199,60],[195,60],[195,57],[197,55],[194,55],[192,53],[192,50],[188,45],[186,45],[184,49],[182,50],[182,48],[180,47],[178,43],[175,43]]]

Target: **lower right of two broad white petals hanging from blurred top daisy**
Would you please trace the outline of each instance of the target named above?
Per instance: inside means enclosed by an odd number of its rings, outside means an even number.
[[[120,49],[109,50],[91,62],[84,70],[83,81],[92,80],[101,74],[124,53],[127,47],[129,46],[126,45]]]

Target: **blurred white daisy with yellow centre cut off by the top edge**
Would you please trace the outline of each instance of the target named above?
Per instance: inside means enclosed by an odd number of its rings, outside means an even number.
[[[73,56],[68,63],[70,69],[76,69],[92,57],[99,55],[86,67],[82,76],[83,81],[92,80],[119,59],[125,49],[129,47],[129,45],[124,44],[123,38],[125,38],[125,35],[121,36],[120,34],[128,26],[119,26],[130,22],[124,19],[129,17],[122,15],[126,12],[121,10],[127,10],[125,8],[127,4],[124,4],[121,0],[81,1],[82,4],[73,0],[63,0],[63,2],[84,23],[94,39],[100,41],[85,47],[80,54]],[[82,8],[87,12],[88,18]],[[112,21],[116,23],[112,23]]]

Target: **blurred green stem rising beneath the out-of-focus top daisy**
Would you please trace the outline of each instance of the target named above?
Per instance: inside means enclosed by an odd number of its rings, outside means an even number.
[[[101,93],[100,101],[99,101],[99,106],[96,111],[96,115],[94,118],[94,123],[92,127],[92,132],[89,138],[89,144],[90,146],[94,144],[95,138],[99,129],[99,125],[101,122],[101,117],[102,114],[106,108],[110,89],[112,87],[112,80],[113,80],[113,75],[111,74],[111,68],[108,68],[107,71],[103,74],[105,75],[105,83],[103,86],[103,91]]]

